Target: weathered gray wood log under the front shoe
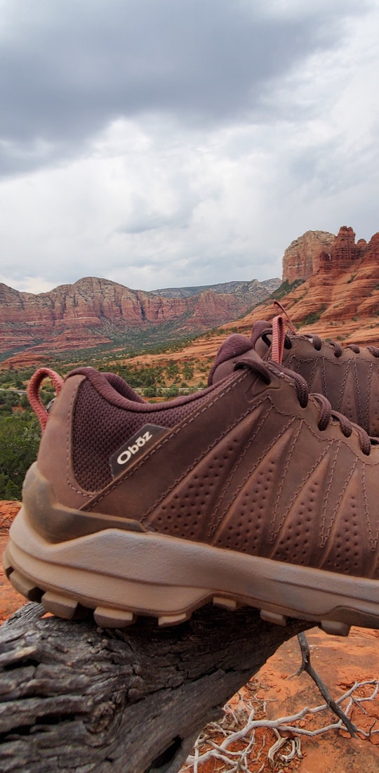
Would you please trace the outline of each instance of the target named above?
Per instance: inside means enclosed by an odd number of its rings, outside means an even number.
[[[176,773],[228,698],[313,625],[211,606],[163,629],[42,614],[26,604],[0,628],[3,773]]]

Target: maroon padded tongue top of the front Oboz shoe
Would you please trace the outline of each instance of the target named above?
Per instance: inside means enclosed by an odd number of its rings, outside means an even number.
[[[270,327],[269,322],[261,320],[255,322],[252,328],[252,335],[250,338],[247,335],[241,335],[240,333],[234,333],[222,343],[218,349],[215,357],[215,362],[211,367],[211,371],[208,376],[208,386],[215,384],[226,376],[230,376],[234,369],[235,364],[241,359],[254,359],[255,362],[261,362],[261,356],[256,351],[255,347],[257,342],[261,342],[262,332]],[[267,346],[262,342],[262,346],[267,351]],[[259,346],[260,348],[260,346]],[[263,354],[264,352],[262,352]]]

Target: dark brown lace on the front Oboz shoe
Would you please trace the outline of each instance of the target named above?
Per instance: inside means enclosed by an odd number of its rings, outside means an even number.
[[[266,384],[271,382],[272,373],[275,373],[276,375],[279,373],[279,376],[285,376],[289,378],[289,380],[291,380],[296,386],[296,394],[299,400],[299,405],[302,408],[306,408],[308,405],[310,391],[308,389],[306,380],[303,378],[303,376],[300,376],[299,373],[294,373],[292,370],[285,368],[279,363],[259,363],[254,359],[247,358],[239,359],[239,362],[235,363],[235,370],[243,367],[247,367],[252,370],[253,373],[257,373],[262,377],[262,380]],[[340,424],[340,430],[345,438],[350,438],[353,430],[357,432],[360,450],[366,456],[369,456],[371,452],[371,438],[363,429],[363,427],[359,427],[358,424],[351,422],[346,416],[340,414],[338,410],[333,410],[329,400],[327,400],[327,397],[324,397],[323,394],[312,393],[312,397],[313,400],[316,400],[316,403],[320,408],[319,419],[317,422],[319,430],[323,432],[330,425],[330,421],[338,421]]]

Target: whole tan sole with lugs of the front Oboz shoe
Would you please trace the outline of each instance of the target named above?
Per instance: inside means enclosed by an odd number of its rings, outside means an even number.
[[[319,623],[347,635],[350,625],[379,628],[379,581],[249,556],[201,543],[107,529],[52,544],[16,516],[3,556],[17,591],[61,618],[93,611],[104,628],[123,628],[137,615],[177,625],[209,602],[248,605],[266,621]]]

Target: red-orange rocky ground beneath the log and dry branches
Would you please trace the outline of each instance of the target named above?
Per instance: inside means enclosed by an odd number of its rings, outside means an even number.
[[[8,529],[19,510],[19,502],[0,502],[0,553],[8,540]],[[0,568],[0,621],[18,609],[25,599],[13,590]],[[308,632],[311,662],[313,668],[327,684],[331,696],[337,700],[347,693],[355,683],[360,686],[354,691],[354,696],[370,697],[375,691],[375,680],[379,679],[379,632],[353,628],[348,638],[330,636],[313,628]],[[346,730],[329,730],[313,737],[299,736],[283,732],[281,736],[289,740],[269,761],[269,750],[277,741],[275,731],[270,727],[258,727],[255,730],[255,742],[250,744],[250,751],[245,756],[247,767],[243,768],[241,752],[246,748],[247,741],[239,740],[229,747],[229,751],[238,754],[225,754],[216,747],[225,743],[225,734],[243,730],[249,715],[250,719],[272,722],[279,717],[287,717],[286,724],[299,727],[300,730],[315,730],[335,724],[337,718],[330,710],[313,713],[312,711],[296,721],[289,722],[305,707],[312,710],[323,705],[324,700],[319,690],[306,673],[295,676],[301,663],[299,642],[297,638],[286,642],[276,654],[266,662],[258,674],[239,693],[232,697],[225,707],[225,718],[220,727],[213,725],[206,730],[211,744],[199,747],[198,754],[213,750],[217,757],[211,757],[204,763],[201,759],[190,764],[187,770],[193,773],[215,773],[215,771],[251,771],[251,773],[272,773],[272,771],[299,771],[299,773],[357,773],[364,768],[364,773],[377,773],[379,770],[379,732],[371,738],[359,734],[351,738]],[[366,684],[363,684],[366,683]],[[368,683],[368,684],[367,684]],[[346,709],[347,700],[343,707]],[[373,700],[364,703],[354,703],[352,719],[361,730],[379,731],[379,694]],[[282,723],[283,724],[283,723]],[[301,739],[300,745],[291,743],[291,739]],[[248,741],[252,734],[247,737]],[[294,753],[295,751],[295,753]],[[282,754],[285,758],[280,758]],[[271,752],[273,754],[273,752]],[[229,760],[229,761],[227,761]],[[193,762],[193,761],[192,761]],[[237,764],[240,767],[236,767]],[[197,765],[197,768],[196,768]]]

